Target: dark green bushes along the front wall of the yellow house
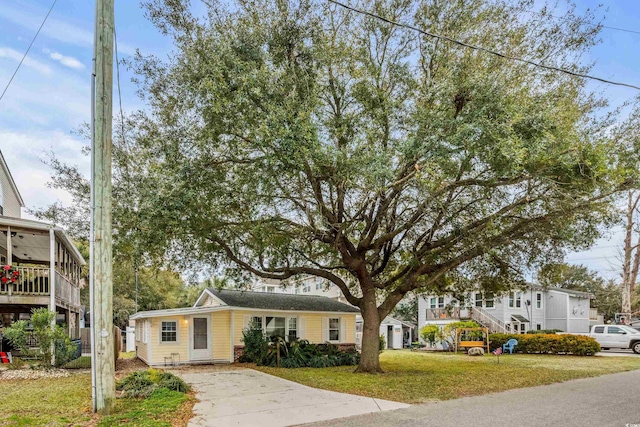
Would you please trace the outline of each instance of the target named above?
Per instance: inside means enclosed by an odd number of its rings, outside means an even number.
[[[335,344],[311,344],[299,339],[286,341],[282,337],[269,341],[257,325],[250,324],[242,331],[242,342],[244,353],[238,361],[260,366],[278,366],[278,359],[282,368],[355,366],[360,362],[360,354],[355,348],[345,351]]]

